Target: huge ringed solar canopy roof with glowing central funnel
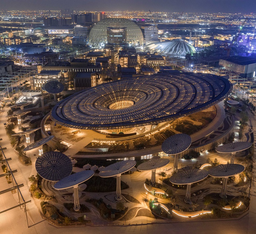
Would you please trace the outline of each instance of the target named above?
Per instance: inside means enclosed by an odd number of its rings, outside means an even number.
[[[52,119],[77,129],[143,126],[179,118],[220,102],[225,78],[203,73],[144,75],[97,85],[56,104]]]

